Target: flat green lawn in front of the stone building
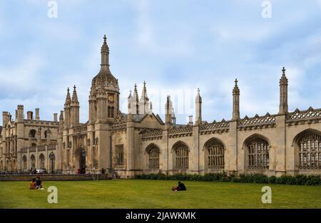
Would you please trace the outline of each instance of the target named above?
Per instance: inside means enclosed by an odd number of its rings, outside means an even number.
[[[105,180],[44,182],[58,188],[58,204],[47,190],[29,190],[29,182],[0,182],[0,208],[321,208],[321,187],[269,185],[272,204],[263,204],[265,185],[185,182],[187,191],[172,192],[176,181]]]

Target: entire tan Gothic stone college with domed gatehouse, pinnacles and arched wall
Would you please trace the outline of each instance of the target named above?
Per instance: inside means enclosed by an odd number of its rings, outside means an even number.
[[[63,173],[93,173],[102,168],[122,177],[163,172],[229,172],[296,175],[321,173],[321,109],[289,112],[285,68],[280,78],[280,109],[275,115],[240,118],[240,90],[235,80],[232,119],[202,120],[200,91],[195,98],[195,122],[176,125],[172,102],[165,103],[165,122],[152,111],[146,84],[141,98],[135,85],[128,111],[119,109],[119,87],[109,68],[104,37],[101,69],[91,81],[89,114],[79,123],[76,87],[66,95],[58,122],[24,120],[21,105],[16,121],[4,118],[1,133],[1,170],[42,167],[55,155],[55,169]],[[4,117],[6,113],[4,113]],[[41,127],[41,130],[38,130]],[[36,130],[36,139],[30,130]],[[54,140],[46,142],[41,131]],[[57,135],[58,131],[58,135]],[[58,142],[55,147],[54,142]],[[35,144],[32,144],[35,143]],[[36,158],[36,162],[34,161]],[[12,165],[15,162],[15,165]],[[42,166],[41,166],[42,165]]]

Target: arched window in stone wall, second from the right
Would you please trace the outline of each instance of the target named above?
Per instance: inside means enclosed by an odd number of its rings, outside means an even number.
[[[246,142],[248,147],[248,169],[268,170],[269,169],[269,144],[263,138],[255,137]]]

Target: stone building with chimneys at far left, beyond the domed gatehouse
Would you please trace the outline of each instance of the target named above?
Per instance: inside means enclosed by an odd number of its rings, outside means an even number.
[[[17,172],[36,168],[55,169],[56,144],[58,138],[57,114],[53,121],[40,120],[39,108],[36,115],[27,112],[24,118],[24,105],[18,105],[14,120],[11,114],[2,113],[0,136],[0,170]],[[47,157],[51,159],[47,159]]]

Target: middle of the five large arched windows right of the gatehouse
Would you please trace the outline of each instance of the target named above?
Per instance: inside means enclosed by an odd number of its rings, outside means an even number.
[[[224,170],[224,145],[218,140],[210,140],[205,144],[207,167],[209,170]]]

